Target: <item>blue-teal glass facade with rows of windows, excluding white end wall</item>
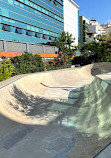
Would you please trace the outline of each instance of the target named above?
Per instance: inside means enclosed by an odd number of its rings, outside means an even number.
[[[63,30],[63,0],[0,0],[0,40],[47,43]]]

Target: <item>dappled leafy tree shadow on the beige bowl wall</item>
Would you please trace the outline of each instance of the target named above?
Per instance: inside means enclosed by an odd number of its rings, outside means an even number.
[[[16,104],[10,102],[10,105],[20,112],[25,112],[28,116],[40,115],[43,117],[48,113],[48,108],[53,103],[56,103],[54,100],[48,100],[25,93],[16,86],[13,86],[13,93],[11,95],[15,98]],[[22,107],[22,110],[20,110],[19,107]]]

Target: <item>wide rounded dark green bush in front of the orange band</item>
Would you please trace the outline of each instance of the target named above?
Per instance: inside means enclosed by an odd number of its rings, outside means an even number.
[[[15,74],[26,74],[44,71],[44,64],[40,55],[24,52],[21,56],[11,58],[16,71]]]

